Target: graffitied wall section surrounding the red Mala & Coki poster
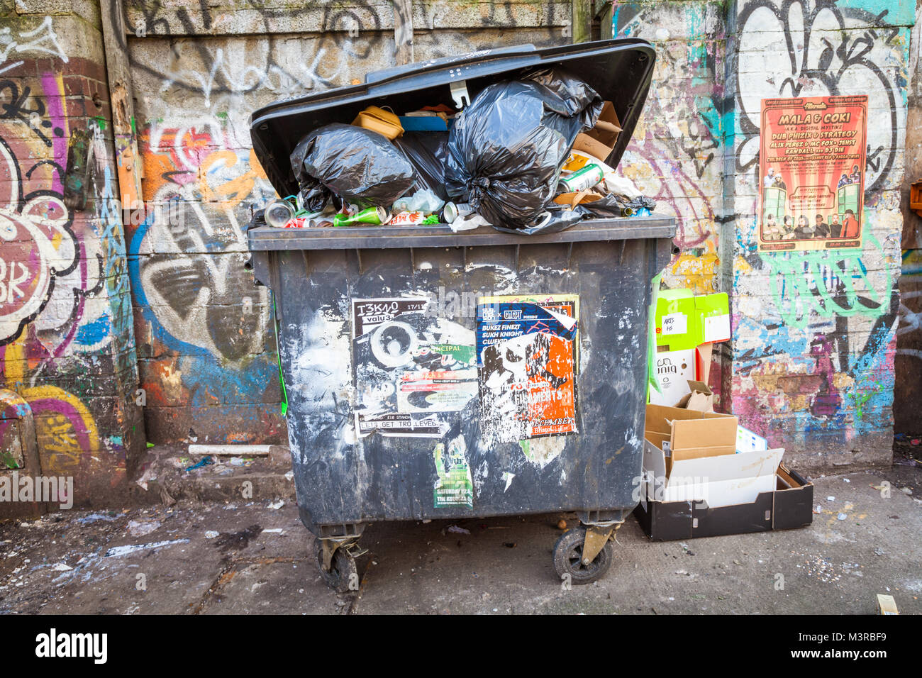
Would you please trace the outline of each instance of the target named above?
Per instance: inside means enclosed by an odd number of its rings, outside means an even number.
[[[734,412],[804,468],[885,463],[892,450],[906,64],[914,8],[892,2],[739,3],[730,74]],[[760,100],[867,94],[860,250],[757,253]],[[727,233],[727,236],[730,233]],[[726,379],[727,375],[725,375]],[[728,381],[728,383],[727,383]]]

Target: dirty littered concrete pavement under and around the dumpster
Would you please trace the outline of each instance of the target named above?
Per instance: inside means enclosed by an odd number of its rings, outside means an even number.
[[[0,612],[853,614],[890,593],[922,613],[922,502],[900,489],[920,470],[893,473],[815,480],[805,529],[652,542],[631,517],[608,576],[569,590],[551,549],[572,514],[372,525],[337,594],[290,499],[63,511],[0,524]]]

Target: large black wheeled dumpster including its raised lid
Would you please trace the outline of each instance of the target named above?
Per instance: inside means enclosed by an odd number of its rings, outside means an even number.
[[[643,41],[525,46],[375,74],[266,107],[254,149],[279,195],[289,155],[369,104],[456,101],[530,66],[561,64],[613,101],[623,133],[654,61]],[[489,226],[250,229],[273,293],[301,520],[344,588],[362,529],[380,520],[578,511],[555,566],[600,577],[638,501],[651,279],[674,220],[584,220],[556,233]],[[353,577],[354,578],[354,577]]]

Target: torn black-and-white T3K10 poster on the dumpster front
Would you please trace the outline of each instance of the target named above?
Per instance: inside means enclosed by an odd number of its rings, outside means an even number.
[[[353,309],[420,300],[355,300]],[[474,333],[419,308],[358,319],[352,355],[356,432],[440,438],[478,393]],[[389,306],[408,308],[398,303]],[[386,314],[384,314],[386,315]],[[368,329],[368,327],[371,327]]]

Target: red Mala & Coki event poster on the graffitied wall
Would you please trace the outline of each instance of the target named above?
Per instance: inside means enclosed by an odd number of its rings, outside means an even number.
[[[759,249],[860,248],[868,97],[762,100]]]

